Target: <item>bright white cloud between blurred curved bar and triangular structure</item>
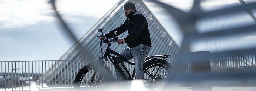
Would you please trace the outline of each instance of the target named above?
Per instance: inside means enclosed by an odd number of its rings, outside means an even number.
[[[64,0],[56,3],[64,15],[104,16],[119,0]]]

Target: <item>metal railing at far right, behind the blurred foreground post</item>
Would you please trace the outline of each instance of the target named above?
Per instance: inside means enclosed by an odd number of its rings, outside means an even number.
[[[211,73],[250,73],[256,72],[256,54],[244,54],[210,59]],[[191,63],[184,64],[183,73],[191,75]]]

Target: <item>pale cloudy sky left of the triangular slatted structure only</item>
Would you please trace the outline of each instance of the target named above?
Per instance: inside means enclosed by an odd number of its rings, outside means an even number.
[[[119,0],[57,1],[80,38]],[[74,44],[63,33],[46,0],[0,0],[0,61],[58,60]]]

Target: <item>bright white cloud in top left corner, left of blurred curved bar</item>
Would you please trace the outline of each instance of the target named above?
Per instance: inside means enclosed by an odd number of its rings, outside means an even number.
[[[54,17],[41,15],[53,12],[46,1],[3,1],[0,3],[0,27],[14,28],[35,24],[38,21],[53,21]]]

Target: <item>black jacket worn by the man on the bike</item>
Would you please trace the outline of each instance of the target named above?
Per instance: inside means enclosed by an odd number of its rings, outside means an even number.
[[[128,47],[135,47],[139,44],[144,44],[151,47],[151,38],[148,31],[148,22],[146,18],[136,10],[135,14],[130,18],[126,18],[125,22],[119,27],[105,34],[107,38],[112,38],[111,34],[117,31],[120,35],[128,30],[128,35],[124,38]]]

